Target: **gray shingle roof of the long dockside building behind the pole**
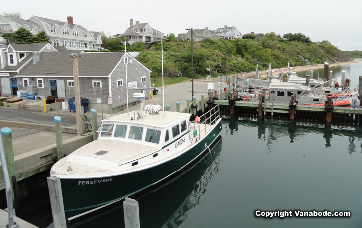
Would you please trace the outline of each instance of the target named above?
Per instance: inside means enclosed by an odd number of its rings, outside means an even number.
[[[73,76],[73,52],[42,52],[40,61],[27,65],[18,76]],[[85,54],[78,58],[79,76],[108,76],[123,55],[124,52]]]

